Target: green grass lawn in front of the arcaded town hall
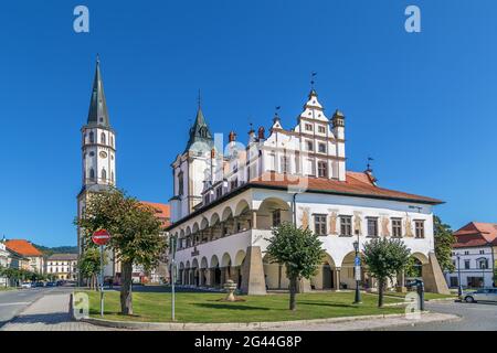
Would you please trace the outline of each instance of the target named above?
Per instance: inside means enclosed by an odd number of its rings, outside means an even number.
[[[91,317],[99,318],[99,296],[89,295]],[[105,293],[105,319],[167,322],[171,318],[171,295],[134,292],[133,317],[120,315],[119,292]],[[362,295],[362,304],[355,306],[353,292],[303,293],[297,296],[297,311],[288,310],[288,295],[242,296],[245,301],[220,302],[224,293],[179,292],[176,296],[176,319],[179,322],[258,322],[402,313],[403,307],[377,307],[378,297]],[[385,298],[385,303],[400,302]]]

